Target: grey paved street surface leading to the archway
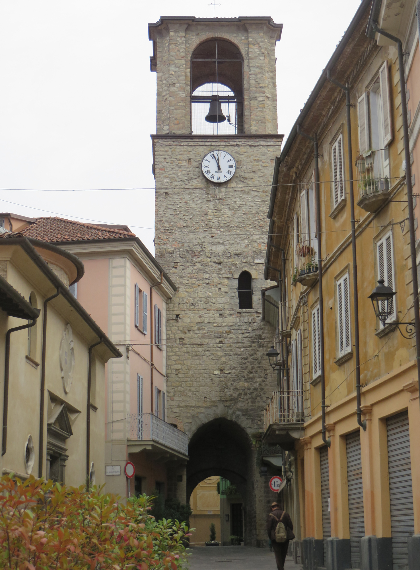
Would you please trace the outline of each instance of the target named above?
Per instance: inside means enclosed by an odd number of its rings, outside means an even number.
[[[275,570],[274,552],[252,546],[190,548],[190,570]],[[302,570],[292,558],[286,558],[285,570]]]

